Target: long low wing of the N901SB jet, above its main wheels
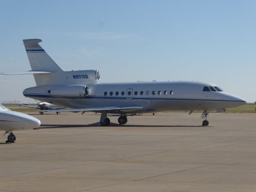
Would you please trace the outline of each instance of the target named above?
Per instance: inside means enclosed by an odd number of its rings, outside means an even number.
[[[130,112],[138,109],[142,109],[143,107],[103,107],[103,108],[84,108],[84,109],[60,109],[60,110],[43,110],[40,112],[101,112],[101,111],[120,111],[120,112]]]

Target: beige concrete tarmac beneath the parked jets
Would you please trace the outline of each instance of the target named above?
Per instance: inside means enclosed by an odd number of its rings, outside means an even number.
[[[200,115],[34,113],[40,129],[0,136],[0,191],[255,192],[256,114]]]

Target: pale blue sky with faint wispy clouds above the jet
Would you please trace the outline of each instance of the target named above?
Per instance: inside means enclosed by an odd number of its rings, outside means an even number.
[[[30,70],[22,39],[40,38],[63,70],[98,69],[101,82],[211,82],[254,102],[255,10],[253,0],[3,0],[0,71]],[[32,75],[0,81],[0,102],[28,102],[22,91],[35,86]]]

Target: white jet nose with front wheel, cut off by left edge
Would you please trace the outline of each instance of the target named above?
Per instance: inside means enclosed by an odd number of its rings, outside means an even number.
[[[0,105],[0,130],[5,130],[4,135],[9,134],[6,142],[15,142],[16,136],[12,133],[14,130],[38,128],[41,122],[30,115],[11,111]]]

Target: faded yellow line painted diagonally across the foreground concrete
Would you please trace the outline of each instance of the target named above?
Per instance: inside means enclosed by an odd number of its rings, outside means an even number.
[[[105,169],[105,168],[111,168],[111,167],[119,167],[119,166],[125,166],[125,165],[129,165],[129,164],[140,164],[140,163],[145,163],[145,162],[159,160],[159,159],[168,158],[168,157],[182,156],[182,155],[186,155],[186,154],[192,154],[192,153],[196,153],[196,152],[205,152],[207,150],[214,150],[214,149],[218,149],[218,148],[243,145],[243,144],[247,144],[249,142],[255,142],[255,141],[256,140],[248,140],[248,141],[244,141],[244,142],[235,142],[235,143],[230,143],[230,144],[216,146],[216,147],[184,151],[184,152],[169,154],[169,155],[156,156],[156,157],[147,158],[147,159],[144,159],[144,160],[136,160],[136,161],[130,161],[130,162],[116,163],[116,164],[110,164],[110,165],[106,165],[106,166],[96,166],[96,167],[84,168],[84,169],[80,169],[80,170],[70,170],[70,171],[67,171],[67,172],[48,174],[48,175],[42,175],[42,176],[37,176],[37,177],[28,177],[28,178],[4,180],[4,181],[0,181],[0,183],[10,183],[10,182],[25,181],[25,180],[44,179],[44,178],[50,178],[50,177],[54,177],[54,176],[62,176],[62,175],[80,173],[80,172],[87,172],[87,171],[90,171],[90,170],[99,170],[99,169]]]

